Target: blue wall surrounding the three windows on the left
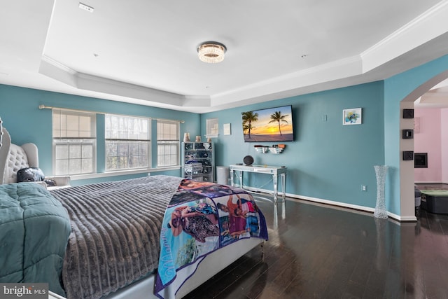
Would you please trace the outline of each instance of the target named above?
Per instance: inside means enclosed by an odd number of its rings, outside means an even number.
[[[184,120],[185,123],[181,123],[181,132],[192,132],[192,135],[200,133],[200,115],[197,113],[160,109],[136,104],[125,104],[105,99],[79,97],[58,92],[19,88],[10,85],[0,85],[0,118],[3,120],[3,126],[10,132],[13,143],[25,144],[27,142],[32,142],[38,146],[39,167],[46,175],[52,174],[52,111],[51,109],[38,109],[40,104],[67,109]],[[97,118],[98,120],[101,120],[104,119],[104,116],[98,114]],[[98,124],[98,133],[104,135],[102,122],[99,121]],[[157,136],[155,120],[152,124],[152,130],[154,139]],[[104,142],[101,142],[100,140],[101,139],[99,139],[97,144],[97,171],[104,172]],[[157,153],[156,142],[152,142],[151,151],[153,153],[152,165],[155,167],[157,165],[157,157],[155,155]],[[168,171],[160,172],[160,174],[179,176],[181,172],[180,170],[174,172]],[[72,181],[72,185],[91,183],[93,181],[130,179],[141,175],[146,174]]]

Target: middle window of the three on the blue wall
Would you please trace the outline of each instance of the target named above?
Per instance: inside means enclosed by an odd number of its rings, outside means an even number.
[[[106,114],[106,171],[148,168],[151,119]]]

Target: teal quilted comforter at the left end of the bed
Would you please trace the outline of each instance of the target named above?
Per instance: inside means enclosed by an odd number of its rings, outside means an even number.
[[[0,282],[48,282],[64,295],[66,209],[38,183],[0,185]]]

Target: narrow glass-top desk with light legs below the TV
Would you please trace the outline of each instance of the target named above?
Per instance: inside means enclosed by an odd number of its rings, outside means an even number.
[[[279,176],[281,178],[281,197],[285,200],[286,197],[286,167],[269,166],[269,165],[230,165],[230,185],[235,186],[235,172],[239,176],[240,188],[243,188],[243,174],[244,172],[255,172],[258,174],[271,174],[274,183],[274,202],[278,200],[278,183]]]

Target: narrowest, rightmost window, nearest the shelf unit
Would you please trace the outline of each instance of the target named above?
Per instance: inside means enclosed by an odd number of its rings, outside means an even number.
[[[157,121],[157,166],[179,165],[179,121]]]

